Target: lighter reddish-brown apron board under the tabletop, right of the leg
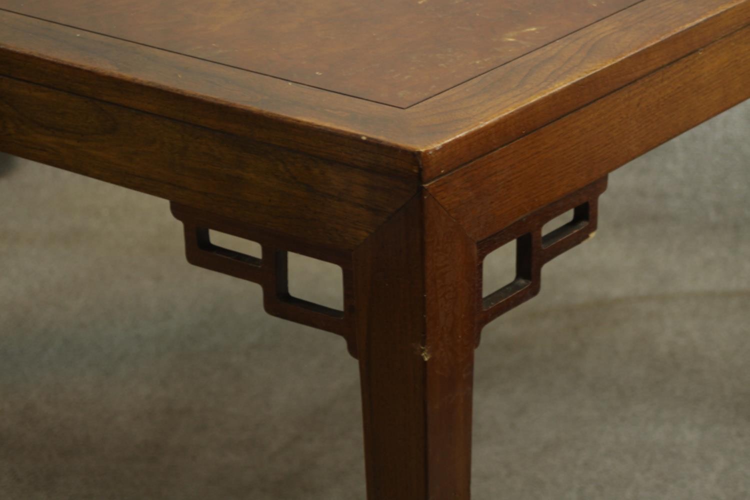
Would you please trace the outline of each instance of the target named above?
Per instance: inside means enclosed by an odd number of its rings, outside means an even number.
[[[428,185],[479,241],[750,97],[750,28]]]

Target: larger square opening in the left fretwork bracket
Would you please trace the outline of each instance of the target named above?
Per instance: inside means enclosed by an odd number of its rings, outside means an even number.
[[[341,266],[289,252],[289,295],[311,304],[344,311],[344,275]]]

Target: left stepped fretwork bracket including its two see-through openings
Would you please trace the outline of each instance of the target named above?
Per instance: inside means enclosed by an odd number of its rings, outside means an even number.
[[[184,224],[188,262],[260,284],[267,313],[341,335],[356,358],[348,253],[308,248],[292,238],[174,202],[172,214]],[[314,257],[290,251],[297,249],[309,250]],[[307,267],[311,261],[312,269]]]

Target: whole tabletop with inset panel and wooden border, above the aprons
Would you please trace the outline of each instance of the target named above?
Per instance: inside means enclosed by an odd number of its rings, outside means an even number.
[[[430,181],[748,22],[746,0],[0,0],[0,72]]]

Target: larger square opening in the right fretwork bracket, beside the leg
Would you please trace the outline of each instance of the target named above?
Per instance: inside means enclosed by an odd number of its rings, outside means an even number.
[[[531,284],[531,246],[531,235],[523,235],[484,257],[481,288],[485,309],[505,301]]]

